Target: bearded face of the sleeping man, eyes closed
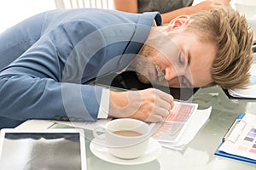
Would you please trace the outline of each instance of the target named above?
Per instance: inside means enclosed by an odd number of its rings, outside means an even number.
[[[212,62],[217,49],[201,42],[195,33],[175,31],[168,42],[150,43],[137,57],[137,77],[141,82],[172,88],[200,88],[212,82]],[[153,38],[154,39],[154,38]],[[161,43],[158,45],[154,45]],[[153,45],[152,45],[153,44]]]

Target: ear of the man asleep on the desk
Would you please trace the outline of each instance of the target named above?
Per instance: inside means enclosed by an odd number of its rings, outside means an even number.
[[[171,31],[180,26],[186,26],[189,23],[189,15],[180,15],[174,18],[166,27],[166,31]]]

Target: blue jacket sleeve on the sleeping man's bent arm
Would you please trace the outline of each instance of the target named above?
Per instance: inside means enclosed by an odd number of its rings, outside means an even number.
[[[106,54],[97,30],[89,22],[73,20],[45,32],[0,73],[0,116],[96,121],[102,88],[83,82],[96,77],[92,68],[102,65]]]

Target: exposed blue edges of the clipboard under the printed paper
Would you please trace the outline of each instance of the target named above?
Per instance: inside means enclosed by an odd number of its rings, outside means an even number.
[[[226,133],[226,135],[228,133],[231,133],[232,130],[233,130],[233,127],[235,127],[236,123],[240,122],[242,117],[245,116],[245,113],[241,113],[239,116],[236,117],[236,121],[232,124],[232,126],[229,128],[228,132]],[[226,136],[225,135],[225,136]],[[224,137],[225,139],[225,137]],[[225,140],[223,139],[223,141],[221,142],[221,144],[218,145],[218,148],[224,144]],[[233,155],[233,154],[230,154],[230,153],[227,153],[227,152],[224,152],[224,151],[220,151],[220,150],[216,150],[214,155],[217,155],[217,156],[224,156],[224,157],[228,157],[228,158],[232,158],[232,159],[236,159],[236,160],[239,160],[239,161],[247,161],[247,162],[250,162],[250,163],[254,163],[256,164],[256,160],[253,160],[253,159],[250,159],[250,158],[247,158],[247,157],[244,157],[244,156],[236,156],[236,155]]]

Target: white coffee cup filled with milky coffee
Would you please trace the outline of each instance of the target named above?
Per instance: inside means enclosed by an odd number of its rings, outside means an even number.
[[[99,135],[99,132],[104,134]],[[134,159],[143,156],[148,149],[150,128],[147,123],[130,118],[115,119],[105,128],[96,127],[93,135],[104,140],[108,152],[122,159]]]

